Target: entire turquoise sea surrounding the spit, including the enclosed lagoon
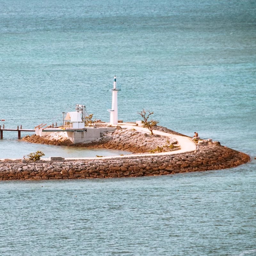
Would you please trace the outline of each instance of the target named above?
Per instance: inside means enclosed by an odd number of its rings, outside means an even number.
[[[108,121],[116,74],[119,119],[150,109],[160,125],[252,157],[164,177],[1,182],[1,255],[256,255],[255,1],[0,7],[1,125],[61,122],[76,103]],[[0,158],[99,155],[16,136],[4,133]]]

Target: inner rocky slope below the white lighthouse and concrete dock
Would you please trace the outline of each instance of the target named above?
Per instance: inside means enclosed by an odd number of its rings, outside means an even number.
[[[50,145],[120,149],[131,153],[167,152],[179,149],[178,141],[175,138],[150,135],[135,129],[116,129],[115,131],[102,132],[100,139],[87,144],[74,145],[65,136],[65,132],[53,132],[43,137],[34,134],[26,136],[22,140]]]

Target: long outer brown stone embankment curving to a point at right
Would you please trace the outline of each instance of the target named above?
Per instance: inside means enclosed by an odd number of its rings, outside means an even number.
[[[139,177],[235,167],[250,157],[220,145],[198,146],[193,153],[93,160],[36,162],[0,161],[0,180],[86,179]]]

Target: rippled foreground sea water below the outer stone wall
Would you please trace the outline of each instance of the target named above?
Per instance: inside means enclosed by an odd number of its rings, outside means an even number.
[[[161,177],[2,182],[0,252],[255,255],[254,176],[244,165]]]

